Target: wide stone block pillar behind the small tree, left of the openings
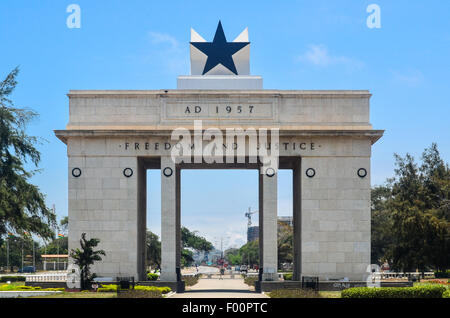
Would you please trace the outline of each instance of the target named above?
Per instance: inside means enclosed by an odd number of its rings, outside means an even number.
[[[104,140],[92,139],[85,141],[84,148],[100,152],[102,144]],[[97,249],[106,253],[92,265],[92,273],[141,279],[145,276],[145,212],[138,209],[138,160],[135,156],[71,155],[79,149],[72,146],[69,141],[69,250],[80,248],[81,234],[86,233],[88,239],[99,239]],[[74,175],[74,169],[79,174]]]

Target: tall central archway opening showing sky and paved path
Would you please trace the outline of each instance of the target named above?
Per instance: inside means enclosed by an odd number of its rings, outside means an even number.
[[[211,247],[196,249],[195,243],[182,242],[183,273],[201,275],[191,290],[248,291],[241,269],[257,276],[259,245],[247,241],[246,213],[249,207],[259,209],[258,173],[257,169],[233,168],[181,170],[182,231],[189,231],[194,241],[204,239]],[[252,216],[257,225],[258,213]]]

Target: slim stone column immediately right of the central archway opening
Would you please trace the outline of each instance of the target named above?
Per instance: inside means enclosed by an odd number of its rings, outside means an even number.
[[[263,268],[262,280],[278,280],[277,180],[278,171],[261,168],[259,174],[259,245],[260,264]]]

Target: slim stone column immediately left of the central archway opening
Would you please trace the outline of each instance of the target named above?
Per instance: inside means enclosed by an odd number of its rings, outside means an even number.
[[[170,156],[161,157],[161,281],[177,281],[177,173]]]

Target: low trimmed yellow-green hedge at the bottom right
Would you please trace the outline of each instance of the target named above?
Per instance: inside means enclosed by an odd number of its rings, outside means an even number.
[[[342,298],[442,298],[445,287],[423,285],[416,287],[356,287],[343,290]]]

